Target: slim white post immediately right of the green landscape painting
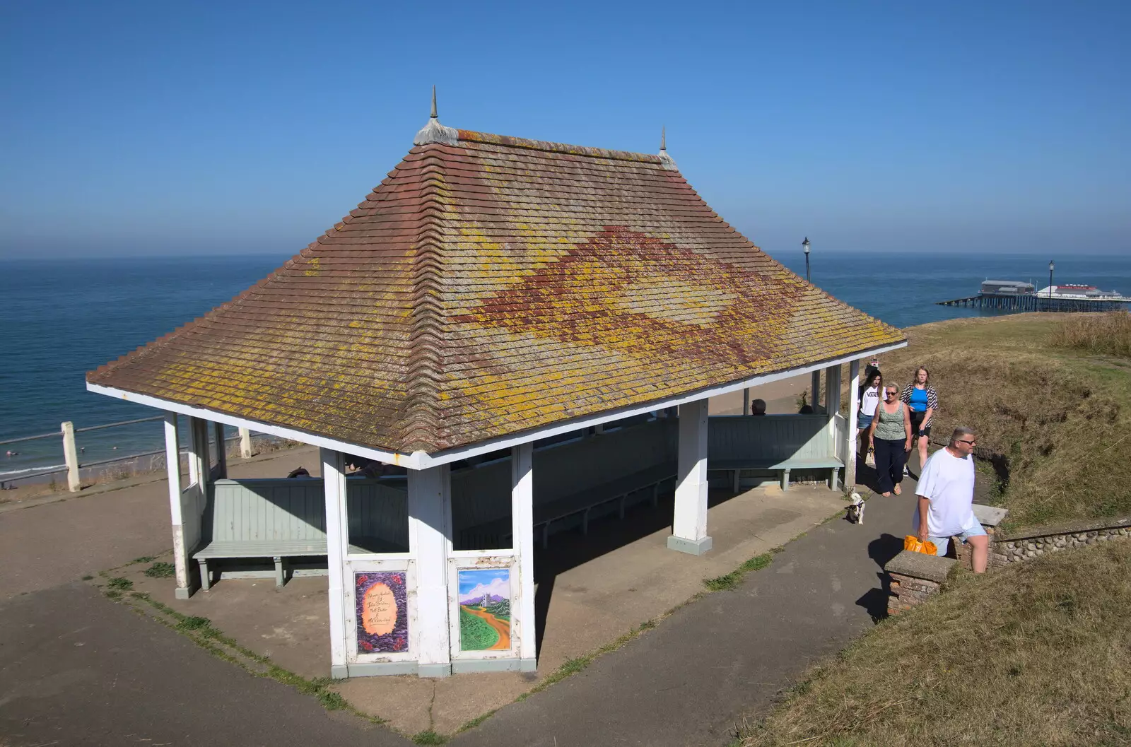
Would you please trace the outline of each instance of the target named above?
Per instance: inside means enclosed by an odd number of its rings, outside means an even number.
[[[537,641],[534,619],[534,442],[510,449],[511,537],[518,584],[511,590],[518,615],[511,626],[518,639],[520,671],[537,669]],[[517,593],[515,593],[517,592]]]

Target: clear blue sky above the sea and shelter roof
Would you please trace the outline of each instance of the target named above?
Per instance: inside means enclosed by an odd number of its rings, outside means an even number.
[[[1131,3],[11,2],[0,257],[297,252],[452,127],[668,150],[771,253],[1131,252]]]

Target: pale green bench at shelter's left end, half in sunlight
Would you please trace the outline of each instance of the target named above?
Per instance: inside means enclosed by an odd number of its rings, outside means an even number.
[[[402,480],[403,484],[403,480]],[[346,480],[349,553],[407,553],[407,494],[380,480]],[[270,558],[275,585],[285,558],[326,555],[321,479],[216,480],[209,486],[201,547],[192,554],[200,587],[211,587],[209,561]]]

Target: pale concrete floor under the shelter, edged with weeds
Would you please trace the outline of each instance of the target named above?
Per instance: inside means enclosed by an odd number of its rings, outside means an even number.
[[[795,485],[783,493],[765,485],[732,496],[713,492],[707,555],[666,548],[672,496],[656,509],[638,506],[624,521],[595,521],[589,535],[563,532],[535,555],[535,614],[539,619],[538,671],[460,675],[439,680],[364,677],[335,687],[362,712],[406,732],[451,733],[472,719],[512,702],[569,659],[589,653],[663,616],[703,590],[702,580],[729,573],[744,561],[784,545],[844,507],[838,493]],[[147,563],[114,573],[135,590],[190,616],[207,617],[241,645],[308,678],[329,674],[325,576],[222,579],[191,599],[173,597],[169,579],[150,579]]]

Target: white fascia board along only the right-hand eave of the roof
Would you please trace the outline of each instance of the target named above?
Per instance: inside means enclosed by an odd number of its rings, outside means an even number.
[[[820,371],[821,368],[828,368],[829,366],[843,365],[851,361],[858,361],[860,358],[866,358],[869,356],[875,356],[880,355],[881,353],[889,353],[891,350],[898,350],[899,348],[905,348],[905,347],[907,347],[907,342],[897,342],[896,345],[888,345],[884,347],[860,350],[851,355],[841,356],[839,358],[830,358],[828,361],[822,361],[820,363],[814,363],[808,366],[798,366],[796,368],[777,371],[771,374],[753,376],[751,379],[744,379],[742,381],[731,382],[728,384],[720,384],[718,386],[711,386],[709,389],[700,389],[689,394],[681,394],[679,397],[667,397],[664,399],[651,400],[650,402],[646,402],[644,405],[633,405],[631,407],[623,407],[618,410],[608,410],[606,412],[601,412],[599,415],[590,415],[581,418],[575,418],[572,420],[563,420],[561,423],[555,423],[553,425],[539,428],[537,431],[526,431],[524,433],[515,434],[511,436],[502,436],[500,438],[494,438],[492,441],[481,441],[480,443],[472,444],[469,446],[463,446],[460,449],[452,449],[450,451],[439,451],[434,454],[426,454],[423,451],[417,451],[413,453],[413,457],[420,460],[420,464],[423,468],[435,467],[438,464],[447,464],[449,462],[454,462],[459,459],[477,457],[480,454],[490,453],[492,451],[498,451],[500,449],[507,449],[508,446],[517,446],[518,444],[526,443],[527,441],[549,438],[551,436],[561,435],[562,433],[569,433],[570,431],[579,431],[581,428],[601,425],[603,423],[610,423],[612,420],[620,420],[621,418],[632,417],[633,415],[644,415],[645,412],[651,412],[653,410],[662,410],[666,407],[675,407],[676,405],[685,405],[687,402],[694,402],[697,400],[707,399],[709,397],[717,397],[719,394],[726,394],[728,392],[736,392],[746,389],[748,386],[758,386],[760,384],[768,384],[772,381],[780,381],[782,379],[792,379],[793,376],[806,374],[812,371]]]

